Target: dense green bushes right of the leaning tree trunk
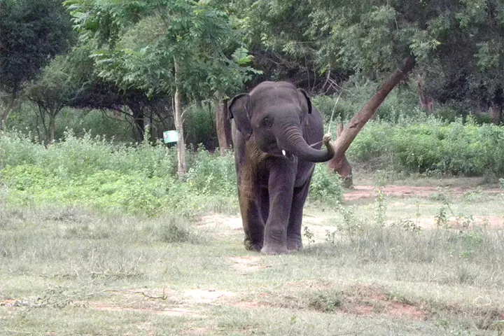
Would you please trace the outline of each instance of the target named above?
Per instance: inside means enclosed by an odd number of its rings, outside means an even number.
[[[370,121],[349,148],[356,165],[442,174],[504,174],[504,129],[435,118],[391,124]]]

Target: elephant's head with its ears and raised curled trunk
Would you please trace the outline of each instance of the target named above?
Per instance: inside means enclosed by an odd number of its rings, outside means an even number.
[[[330,139],[323,141],[327,150],[314,149],[304,140],[303,125],[311,114],[311,101],[307,92],[290,83],[261,83],[250,94],[233,97],[229,111],[239,132],[265,153],[295,155],[309,162],[325,162],[335,154]]]

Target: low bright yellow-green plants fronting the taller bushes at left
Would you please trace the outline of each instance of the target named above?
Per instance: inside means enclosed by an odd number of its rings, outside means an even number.
[[[108,211],[154,215],[167,205],[170,181],[110,170],[79,176],[54,176],[33,165],[1,171],[14,204],[80,204]]]

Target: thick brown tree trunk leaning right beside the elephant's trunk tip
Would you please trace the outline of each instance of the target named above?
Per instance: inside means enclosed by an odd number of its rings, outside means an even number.
[[[379,90],[374,94],[373,97],[371,97],[370,101],[365,104],[365,106],[362,110],[360,110],[359,113],[353,116],[346,128],[344,128],[339,137],[337,137],[336,144],[333,144],[333,146],[335,146],[335,157],[330,160],[329,165],[334,172],[342,172],[343,179],[348,179],[349,176],[351,176],[351,169],[348,171],[348,169],[345,168],[349,167],[349,165],[346,166],[344,164],[344,162],[346,161],[346,158],[344,156],[346,150],[349,148],[353,139],[357,137],[358,132],[362,130],[365,123],[367,123],[367,121],[370,120],[372,116],[374,116],[374,113],[376,113],[381,103],[384,102],[388,93],[390,93],[393,88],[398,85],[400,80],[404,79],[408,75],[408,73],[412,71],[415,64],[416,61],[414,57],[407,57],[400,69],[395,71],[392,76],[385,80]]]

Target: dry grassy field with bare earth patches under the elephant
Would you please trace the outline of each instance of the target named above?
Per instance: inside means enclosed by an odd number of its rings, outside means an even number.
[[[311,202],[278,256],[244,249],[237,211],[0,203],[0,334],[504,335],[504,196],[437,184]]]

